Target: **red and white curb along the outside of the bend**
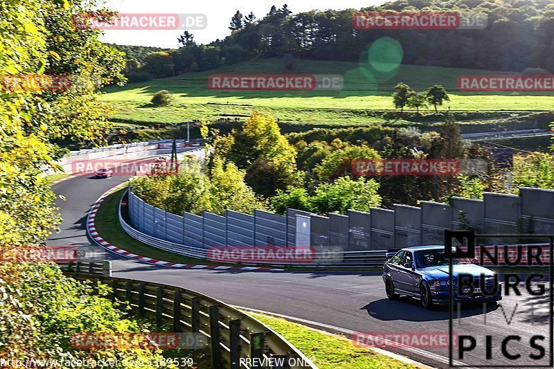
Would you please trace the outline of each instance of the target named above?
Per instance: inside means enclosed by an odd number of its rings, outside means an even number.
[[[113,253],[116,253],[118,255],[125,256],[129,259],[138,260],[140,262],[144,262],[145,264],[152,264],[157,265],[160,267],[171,267],[171,268],[179,268],[179,269],[213,269],[213,270],[233,270],[233,271],[283,271],[283,269],[272,269],[272,268],[262,268],[262,267],[227,267],[224,265],[196,265],[196,264],[178,264],[175,262],[164,262],[163,260],[157,260],[152,258],[146,258],[145,256],[136,255],[135,253],[131,253],[129,251],[125,251],[123,249],[120,249],[118,246],[114,246],[113,244],[110,244],[109,242],[105,241],[100,235],[98,234],[98,231],[96,231],[96,226],[94,226],[94,221],[96,219],[96,213],[98,213],[98,209],[100,208],[100,205],[102,205],[102,202],[104,202],[105,198],[111,193],[114,192],[119,186],[116,186],[116,188],[112,188],[111,190],[108,190],[107,192],[104,192],[102,196],[96,200],[96,202],[93,204],[89,216],[87,217],[87,233],[91,237],[91,239],[96,242],[99,246],[102,246],[104,249],[107,249],[108,251],[111,251]]]

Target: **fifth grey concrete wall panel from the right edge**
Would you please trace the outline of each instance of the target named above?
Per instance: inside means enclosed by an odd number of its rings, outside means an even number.
[[[421,244],[421,208],[394,206],[395,246],[399,249]]]

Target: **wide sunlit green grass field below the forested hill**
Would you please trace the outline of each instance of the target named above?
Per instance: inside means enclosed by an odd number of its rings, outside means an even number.
[[[342,91],[215,91],[208,89],[212,74],[300,73],[339,74],[344,77]],[[186,73],[172,78],[107,87],[101,100],[116,112],[110,118],[125,123],[177,123],[184,120],[244,118],[258,110],[289,123],[334,123],[368,125],[387,123],[368,116],[370,110],[393,110],[391,93],[398,82],[423,91],[432,84],[443,84],[451,101],[440,107],[462,111],[547,111],[553,109],[552,93],[461,93],[456,78],[463,74],[493,74],[494,71],[451,69],[437,66],[401,65],[386,77],[369,80],[366,69],[357,62],[299,60],[287,71],[277,58],[243,62],[220,69]],[[371,74],[370,74],[371,75]],[[161,89],[175,94],[169,107],[154,107],[152,95]],[[431,111],[429,107],[428,111]]]

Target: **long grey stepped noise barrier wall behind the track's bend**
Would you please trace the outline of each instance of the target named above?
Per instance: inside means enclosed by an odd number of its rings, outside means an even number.
[[[395,205],[394,210],[370,208],[368,213],[348,210],[348,215],[327,217],[292,208],[285,215],[227,210],[224,216],[208,212],[180,216],[145,204],[132,192],[128,208],[138,231],[199,249],[310,243],[341,246],[344,251],[378,251],[443,244],[446,229],[488,234],[554,231],[554,190],[539,188],[520,188],[519,195],[485,192],[483,199],[452,197],[449,204],[421,201],[419,207]]]

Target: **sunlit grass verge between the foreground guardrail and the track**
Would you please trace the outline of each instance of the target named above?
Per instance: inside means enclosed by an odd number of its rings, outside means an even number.
[[[247,314],[285,337],[320,369],[417,368],[357,346],[344,336],[320,332],[283,318],[251,312],[247,312]]]

